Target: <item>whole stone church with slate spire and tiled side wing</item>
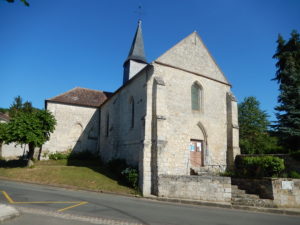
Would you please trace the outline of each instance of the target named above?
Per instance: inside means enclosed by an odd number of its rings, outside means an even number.
[[[231,85],[193,32],[156,60],[145,57],[141,22],[113,93],[74,88],[45,101],[57,127],[43,151],[92,151],[139,169],[144,195],[163,175],[224,171],[239,150]]]

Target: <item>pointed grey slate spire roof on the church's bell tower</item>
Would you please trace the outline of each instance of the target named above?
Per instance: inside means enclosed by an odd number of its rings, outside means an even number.
[[[135,60],[139,62],[147,63],[146,56],[145,56],[145,49],[144,49],[144,40],[142,34],[142,21],[139,20],[138,27],[135,32],[135,36],[133,42],[131,44],[131,48],[128,54],[127,59],[125,60],[124,64],[128,60]]]

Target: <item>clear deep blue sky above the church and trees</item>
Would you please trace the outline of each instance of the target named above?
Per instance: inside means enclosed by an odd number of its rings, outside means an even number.
[[[35,107],[74,87],[114,91],[143,7],[147,60],[196,30],[239,101],[255,96],[275,119],[278,34],[300,31],[299,0],[0,0],[0,107]]]

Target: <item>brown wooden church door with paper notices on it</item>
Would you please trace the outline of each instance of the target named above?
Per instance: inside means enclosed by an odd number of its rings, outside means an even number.
[[[190,161],[192,167],[203,166],[203,141],[191,139]]]

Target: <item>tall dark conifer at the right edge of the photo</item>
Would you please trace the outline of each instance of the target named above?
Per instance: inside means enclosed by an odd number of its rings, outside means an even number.
[[[273,58],[277,59],[274,80],[279,84],[275,128],[286,148],[300,150],[300,39],[297,31],[292,31],[287,41],[278,36]]]

